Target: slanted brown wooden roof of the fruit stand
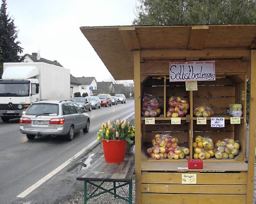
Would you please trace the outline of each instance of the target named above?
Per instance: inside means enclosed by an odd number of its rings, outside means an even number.
[[[256,24],[80,27],[114,79],[134,79],[133,50],[140,61],[250,60]]]

